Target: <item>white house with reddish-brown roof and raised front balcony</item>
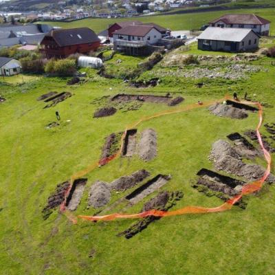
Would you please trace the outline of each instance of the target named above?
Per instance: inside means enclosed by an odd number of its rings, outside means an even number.
[[[129,25],[113,32],[113,48],[130,55],[146,54],[148,46],[162,39],[162,33],[153,25]]]

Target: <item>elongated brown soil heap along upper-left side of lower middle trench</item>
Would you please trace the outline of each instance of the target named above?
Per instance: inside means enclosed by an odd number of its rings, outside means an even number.
[[[115,179],[111,182],[110,187],[112,190],[124,191],[143,181],[149,175],[150,173],[144,169],[138,170],[129,176],[123,176],[119,179]]]

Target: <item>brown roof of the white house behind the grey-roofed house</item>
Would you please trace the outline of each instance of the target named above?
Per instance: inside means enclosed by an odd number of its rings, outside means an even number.
[[[256,14],[225,14],[210,23],[216,23],[218,21],[223,21],[226,24],[265,25],[270,23],[270,21],[263,19]]]

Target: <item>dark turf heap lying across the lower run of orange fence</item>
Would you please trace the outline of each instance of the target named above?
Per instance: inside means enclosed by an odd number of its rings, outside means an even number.
[[[152,210],[152,209],[168,211],[172,206],[175,206],[176,201],[179,201],[183,196],[184,194],[181,191],[160,192],[159,194],[157,194],[156,197],[144,203],[142,212]],[[120,232],[117,236],[125,236],[126,239],[130,239],[132,236],[135,236],[135,234],[147,228],[147,226],[151,222],[158,219],[160,219],[160,217],[154,217],[154,216],[146,217],[141,221],[137,221],[137,223],[134,223],[133,225],[131,225],[131,227],[128,228],[127,230]]]

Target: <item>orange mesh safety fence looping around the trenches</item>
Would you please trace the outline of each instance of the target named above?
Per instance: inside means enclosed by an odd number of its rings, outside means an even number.
[[[213,103],[216,102],[221,102],[225,99],[228,99],[227,97],[218,100],[218,101],[211,101],[211,102],[206,102],[204,104],[190,104],[184,108],[180,108],[180,109],[173,109],[173,110],[169,110],[169,111],[162,111],[160,113],[156,113],[155,115],[151,115],[151,116],[146,116],[140,120],[138,120],[137,122],[126,126],[126,129],[124,131],[124,134],[122,135],[122,144],[120,146],[120,151],[118,151],[118,153],[115,153],[115,155],[108,157],[106,159],[101,159],[99,162],[96,162],[95,164],[91,164],[91,166],[88,166],[87,168],[85,168],[85,170],[82,170],[78,173],[76,173],[75,175],[72,176],[71,178],[71,186],[72,186],[72,181],[74,179],[77,179],[78,177],[82,177],[83,175],[86,175],[87,173],[91,172],[91,170],[94,170],[96,167],[98,166],[102,166],[104,164],[108,164],[109,162],[111,162],[111,160],[116,159],[117,157],[119,157],[120,153],[122,152],[122,146],[123,146],[123,140],[126,134],[126,131],[128,129],[131,129],[133,127],[136,127],[137,125],[139,125],[140,123],[147,121],[147,120],[151,120],[153,118],[159,118],[163,115],[169,115],[169,114],[173,114],[173,113],[181,113],[183,111],[189,111],[191,109],[196,109],[199,107],[206,107],[206,106],[210,106]],[[270,153],[268,153],[268,151],[265,149],[265,146],[263,145],[263,140],[261,138],[261,133],[259,132],[259,129],[261,128],[261,125],[263,124],[263,107],[261,106],[261,104],[259,102],[248,102],[248,101],[243,101],[241,103],[245,103],[245,104],[256,104],[259,107],[259,124],[256,127],[256,135],[258,137],[259,140],[259,144],[263,150],[263,155],[265,156],[265,160],[267,162],[267,168],[265,170],[265,173],[263,175],[263,177],[261,177],[261,179],[254,181],[250,184],[246,184],[245,186],[243,186],[241,193],[239,195],[236,195],[234,197],[232,197],[232,199],[228,199],[228,201],[226,201],[225,203],[223,203],[221,206],[218,206],[216,208],[204,208],[201,206],[186,206],[184,208],[181,208],[179,210],[173,210],[173,211],[160,211],[160,210],[148,210],[146,212],[140,212],[140,213],[136,213],[136,214],[119,214],[119,213],[113,213],[113,214],[107,214],[104,216],[83,216],[83,215],[78,215],[78,217],[80,219],[85,219],[88,221],[112,221],[114,219],[135,219],[135,218],[144,218],[144,217],[148,217],[148,216],[155,216],[155,217],[168,217],[168,216],[175,216],[175,215],[179,215],[179,214],[199,214],[199,213],[209,213],[209,212],[222,212],[225,210],[230,210],[232,208],[232,206],[238,202],[243,195],[248,195],[251,194],[252,192],[256,192],[257,190],[260,190],[261,187],[263,186],[263,183],[265,181],[265,179],[267,179],[268,175],[270,175],[270,171],[271,171],[271,163],[272,163],[272,159],[271,159],[271,155]],[[69,194],[70,188],[69,190],[67,190],[66,193],[66,197]],[[64,212],[65,211],[65,201],[63,202],[63,204],[61,205],[61,211]],[[67,217],[73,222],[76,223],[76,217],[74,217],[72,214],[66,214]]]

